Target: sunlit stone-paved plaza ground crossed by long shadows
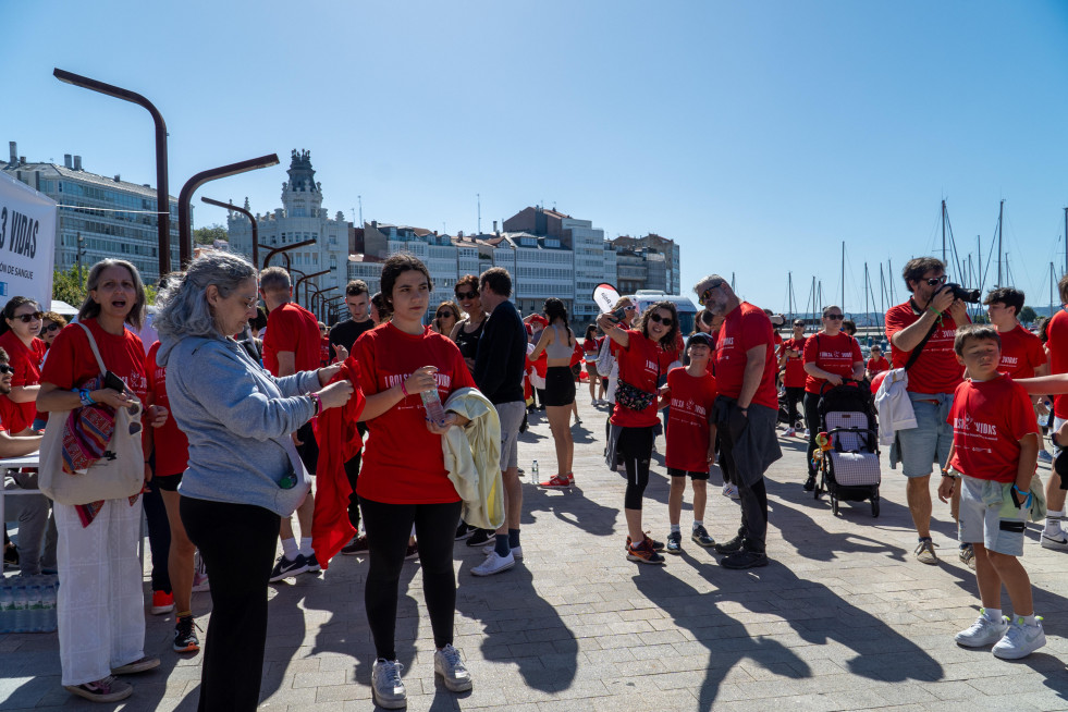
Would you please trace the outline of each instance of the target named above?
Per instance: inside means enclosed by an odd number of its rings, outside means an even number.
[[[455,645],[474,675],[472,691],[455,696],[435,682],[419,566],[405,565],[397,654],[413,712],[1068,710],[1068,554],[1041,549],[1034,526],[1023,562],[1048,643],[1019,662],[954,643],[977,615],[974,575],[957,561],[948,507],[937,501],[934,538],[943,562],[912,558],[904,478],[885,453],[877,519],[867,503],[845,504],[836,518],[825,498],[803,493],[803,441],[782,439],[784,457],[768,481],[770,566],[726,570],[688,539],[664,567],[635,564],[623,551],[624,482],[601,459],[604,410],[594,410],[585,391],[579,400],[574,490],[530,484],[531,459],[543,479],[554,472],[544,417],[532,418],[521,439],[524,561],[479,579],[470,568],[481,554],[456,545]],[[645,512],[647,528],[663,539],[662,439],[658,447]],[[731,538],[737,505],[719,487],[710,487],[709,505],[710,533]],[[684,531],[691,518],[686,504]],[[337,556],[321,576],[271,589],[261,709],[373,707],[366,570],[360,557]],[[195,594],[194,607],[206,627],[208,594]],[[163,665],[131,678],[134,696],[116,707],[194,710],[200,656],[170,651],[171,615],[148,617],[146,651]],[[59,679],[54,634],[0,636],[0,709],[96,709],[69,696]]]

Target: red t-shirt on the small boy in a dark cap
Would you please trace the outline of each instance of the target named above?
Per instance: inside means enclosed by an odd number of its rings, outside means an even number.
[[[685,368],[667,372],[671,409],[667,412],[668,467],[687,472],[709,471],[709,420],[715,402],[715,377],[708,371],[696,378]]]

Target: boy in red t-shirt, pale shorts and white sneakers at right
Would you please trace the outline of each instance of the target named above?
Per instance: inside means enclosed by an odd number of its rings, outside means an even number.
[[[1020,564],[1031,504],[1031,476],[1039,456],[1039,423],[1023,386],[997,369],[1002,341],[993,327],[957,330],[954,352],[971,380],[954,393],[948,422],[953,445],[942,470],[938,499],[947,502],[960,480],[958,537],[975,552],[975,579],[983,607],[957,645],[994,645],[997,658],[1026,658],[1045,645],[1034,615],[1031,580]],[[959,472],[956,475],[955,472]],[[1002,586],[1012,619],[1002,615]]]

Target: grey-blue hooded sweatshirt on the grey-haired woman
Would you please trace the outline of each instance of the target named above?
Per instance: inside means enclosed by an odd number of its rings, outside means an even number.
[[[189,439],[179,492],[293,514],[311,480],[290,433],[315,414],[305,394],[320,388],[316,371],[274,378],[233,339],[160,341],[156,361],[167,368],[171,416]],[[290,472],[297,484],[282,489],[279,482]]]

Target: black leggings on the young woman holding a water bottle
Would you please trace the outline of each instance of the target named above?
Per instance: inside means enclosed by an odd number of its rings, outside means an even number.
[[[452,645],[456,612],[453,538],[462,504],[384,504],[359,498],[370,558],[364,584],[364,607],[375,638],[376,656],[396,660],[397,587],[413,524],[419,542],[422,596],[430,614],[434,646]]]

